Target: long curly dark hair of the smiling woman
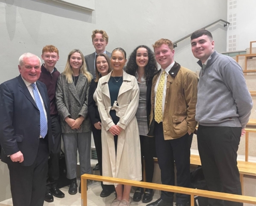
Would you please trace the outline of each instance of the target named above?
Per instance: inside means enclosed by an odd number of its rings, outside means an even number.
[[[139,48],[147,49],[148,63],[145,66],[145,74],[144,74],[144,78],[145,78],[146,84],[147,84],[148,80],[154,76],[155,72],[157,72],[157,67],[158,67],[154,53],[152,52],[152,50],[149,47],[147,47],[145,45],[140,45],[133,50],[133,52],[131,53],[131,55],[129,57],[127,65],[126,65],[126,73],[128,73],[132,76],[135,76],[135,73],[138,70],[138,65],[136,63],[136,55],[137,55],[137,50]]]

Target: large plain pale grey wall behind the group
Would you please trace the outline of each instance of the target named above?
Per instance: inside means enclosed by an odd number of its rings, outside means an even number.
[[[218,19],[227,19],[227,0],[97,0],[95,11],[87,11],[49,0],[0,0],[0,83],[16,77],[18,59],[25,52],[38,56],[44,45],[59,49],[59,71],[67,55],[80,48],[84,55],[94,52],[92,30],[109,35],[107,50],[123,47],[129,55],[140,44],[160,38],[176,41]],[[226,28],[216,24],[213,32],[216,50],[226,48]],[[178,43],[175,60],[195,71],[190,41]],[[0,201],[10,198],[8,168],[0,164]]]

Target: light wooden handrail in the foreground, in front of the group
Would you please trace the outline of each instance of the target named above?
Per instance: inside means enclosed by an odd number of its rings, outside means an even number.
[[[153,189],[153,190],[161,190],[161,191],[187,194],[187,195],[191,196],[191,198],[190,198],[191,206],[194,206],[194,196],[201,196],[201,197],[228,200],[228,201],[234,201],[234,202],[244,202],[244,203],[249,203],[249,204],[256,204],[256,197],[233,195],[233,194],[198,190],[198,189],[192,189],[192,188],[186,188],[186,187],[170,186],[170,185],[164,185],[164,184],[156,184],[156,183],[126,180],[126,179],[113,178],[113,177],[104,177],[104,176],[99,176],[99,175],[84,174],[81,176],[82,206],[87,206],[87,190],[86,190],[87,179],[96,180],[96,181],[104,181],[104,182],[112,182],[112,183],[117,183],[117,184],[125,184],[125,185],[149,188],[149,189]]]

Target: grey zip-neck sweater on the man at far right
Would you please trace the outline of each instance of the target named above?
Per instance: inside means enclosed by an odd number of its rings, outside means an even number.
[[[198,64],[202,67],[202,62]],[[201,69],[195,120],[203,126],[245,128],[252,109],[243,70],[231,57],[216,51]]]

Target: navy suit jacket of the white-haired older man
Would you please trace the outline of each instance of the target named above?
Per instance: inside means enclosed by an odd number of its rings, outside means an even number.
[[[53,148],[50,118],[50,101],[46,85],[36,82],[47,111],[49,151]],[[2,161],[30,166],[34,163],[39,147],[40,112],[21,75],[0,85],[0,142]],[[9,155],[23,153],[22,163],[12,162]]]

